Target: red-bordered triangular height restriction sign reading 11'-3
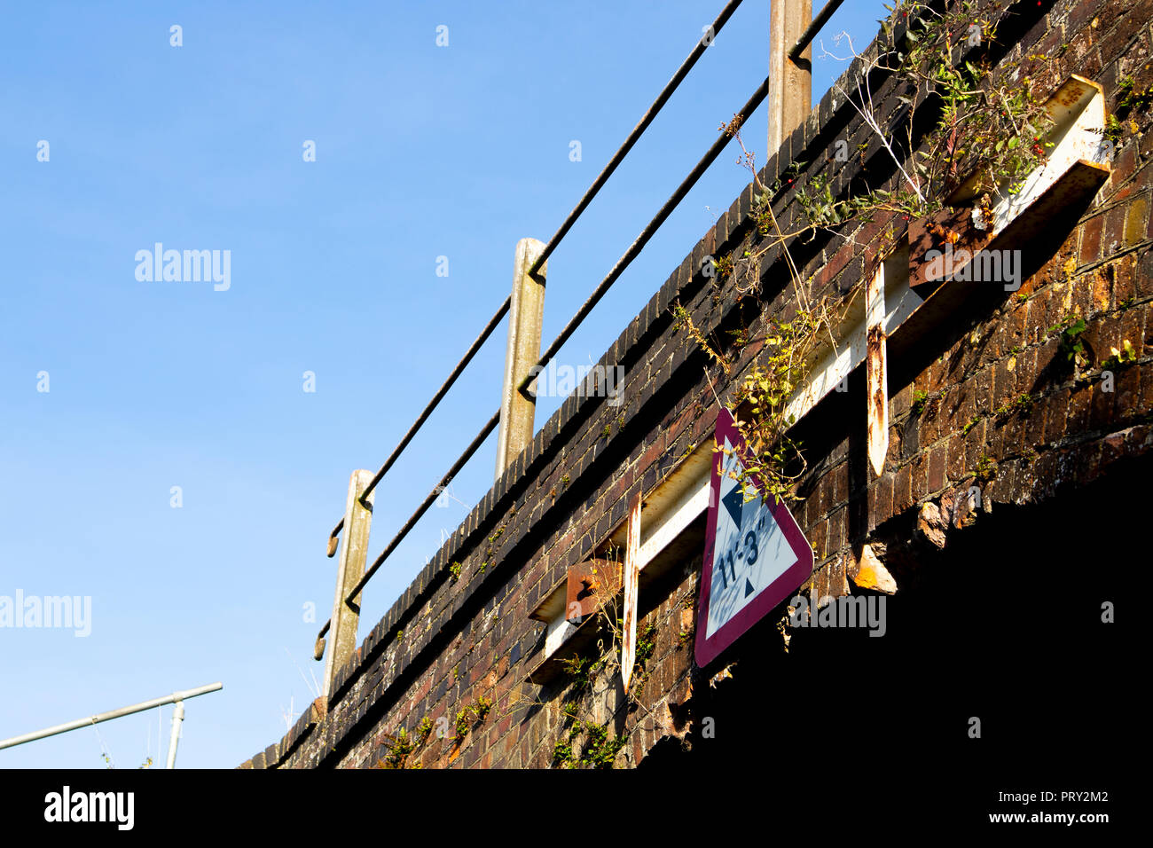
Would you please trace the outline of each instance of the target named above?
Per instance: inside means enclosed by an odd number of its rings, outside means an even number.
[[[783,502],[756,496],[745,502],[737,478],[745,470],[745,440],[732,413],[721,410],[713,455],[704,571],[696,616],[696,665],[706,666],[813,572],[813,548]]]

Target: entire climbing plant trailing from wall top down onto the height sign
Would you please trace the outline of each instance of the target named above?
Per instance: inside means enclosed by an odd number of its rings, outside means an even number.
[[[756,494],[796,497],[797,482],[807,465],[801,445],[789,435],[794,423],[790,402],[807,378],[816,353],[827,345],[836,351],[831,330],[861,291],[858,284],[847,297],[816,297],[811,291],[812,280],[801,279],[790,243],[797,238],[811,239],[821,230],[853,242],[856,235],[845,233],[854,227],[847,224],[869,223],[883,216],[889,226],[882,231],[880,243],[867,246],[883,258],[898,234],[896,220],[933,215],[960,188],[979,210],[980,220],[988,225],[995,201],[1018,192],[1053,147],[1047,141],[1052,119],[1041,83],[1050,58],[1032,53],[995,67],[990,60],[988,47],[996,43],[997,20],[1005,2],[900,0],[887,8],[890,17],[882,22],[875,48],[867,55],[856,51],[847,33],[835,39],[835,50],[846,53],[824,51],[832,59],[854,61],[859,69],[850,82],[835,83],[834,91],[838,103],[847,103],[859,115],[867,129],[866,142],[850,151],[847,141],[843,141],[827,166],[816,168],[807,179],[802,174],[813,163],[793,162],[771,186],[766,186],[756,173],[755,155],[741,140],[744,118],[733,115],[718,128],[740,145],[737,162],[752,173],[752,218],[756,233],[764,238],[737,258],[714,261],[714,278],[733,285],[741,295],[759,297],[760,263],[779,249],[793,284],[787,290],[793,301],[787,317],[777,313],[767,320],[763,335],[756,339],[761,344],[759,354],[730,397],[738,406],[737,426],[754,457],[738,474],[746,498]],[[892,80],[894,93],[877,100],[874,85],[882,80]],[[894,104],[896,114],[891,113]],[[918,137],[914,118],[924,114],[932,117],[932,123]],[[871,187],[869,180],[858,179],[835,194],[834,163],[859,156],[867,177],[868,150],[883,152],[887,173],[895,173],[896,180]],[[792,190],[802,211],[800,224],[789,232],[782,230],[773,209],[774,198],[785,189]],[[930,233],[941,243],[959,238],[942,226],[930,227]],[[761,303],[758,313],[771,314],[768,306]],[[725,346],[715,336],[701,332],[679,303],[673,315],[675,327],[687,330],[728,374],[734,358]],[[748,328],[731,335],[741,345],[754,337]],[[760,490],[753,486],[753,475],[763,483]]]

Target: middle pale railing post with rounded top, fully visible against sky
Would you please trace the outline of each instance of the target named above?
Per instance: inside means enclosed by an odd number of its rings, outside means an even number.
[[[535,395],[517,391],[528,369],[541,355],[541,321],[544,317],[544,277],[549,263],[529,276],[528,269],[544,252],[544,242],[521,239],[512,275],[512,303],[508,307],[508,346],[505,350],[505,377],[500,392],[500,429],[497,431],[497,479],[533,441],[536,413]],[[535,383],[529,384],[529,390]],[[528,395],[528,396],[527,396]]]

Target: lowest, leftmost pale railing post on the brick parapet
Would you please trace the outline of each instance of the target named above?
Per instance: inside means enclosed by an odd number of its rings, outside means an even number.
[[[348,500],[345,502],[344,539],[340,545],[340,561],[337,566],[337,595],[332,602],[332,620],[329,630],[330,648],[324,662],[324,697],[332,695],[332,678],[356,650],[356,624],[360,622],[360,594],[346,600],[348,590],[364,576],[368,558],[368,533],[372,521],[374,489],[361,503],[364,489],[372,480],[370,471],[354,471],[348,480]]]

